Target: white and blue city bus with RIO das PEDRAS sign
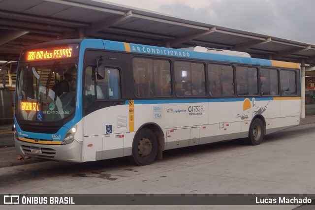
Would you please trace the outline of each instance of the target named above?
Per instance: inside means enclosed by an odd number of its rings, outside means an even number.
[[[19,154],[86,162],[244,139],[299,124],[300,66],[246,53],[100,39],[21,52],[14,108]]]

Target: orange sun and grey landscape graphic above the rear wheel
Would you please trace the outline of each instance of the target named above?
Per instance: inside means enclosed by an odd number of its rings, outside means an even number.
[[[256,106],[256,99],[252,98],[252,103],[250,99],[245,98],[243,102],[243,112],[241,114],[237,114],[236,118],[241,118],[241,120],[248,119],[251,114],[261,115],[263,112],[267,110],[267,106],[270,103],[270,100],[264,106]]]

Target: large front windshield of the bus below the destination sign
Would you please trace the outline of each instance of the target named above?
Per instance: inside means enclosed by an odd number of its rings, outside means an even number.
[[[16,82],[18,120],[56,122],[75,111],[76,64],[28,64],[20,67]]]

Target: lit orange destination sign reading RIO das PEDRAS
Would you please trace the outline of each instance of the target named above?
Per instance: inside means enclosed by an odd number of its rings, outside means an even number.
[[[26,52],[25,60],[50,60],[50,59],[64,59],[71,58],[72,46],[69,47],[55,47],[47,49],[37,49]]]

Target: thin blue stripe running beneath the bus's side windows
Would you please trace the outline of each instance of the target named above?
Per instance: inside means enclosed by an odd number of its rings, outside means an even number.
[[[252,99],[252,97],[249,97]],[[174,103],[208,103],[208,102],[234,102],[244,101],[246,98],[189,98],[189,99],[146,99],[146,100],[134,100],[134,104],[174,104]],[[269,101],[273,100],[273,97],[261,97],[255,98],[256,101]],[[125,104],[129,103],[126,100]]]

